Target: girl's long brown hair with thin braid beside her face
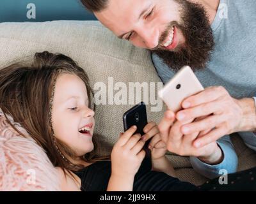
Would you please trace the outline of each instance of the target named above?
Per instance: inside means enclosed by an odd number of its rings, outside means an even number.
[[[79,171],[84,166],[73,164],[67,159],[76,158],[74,151],[55,138],[51,128],[52,91],[56,78],[61,73],[70,73],[83,80],[88,93],[89,107],[92,108],[93,94],[88,75],[70,57],[47,51],[36,53],[30,66],[12,64],[0,70],[0,108],[28,131],[29,136],[45,150],[54,166],[59,166],[63,170]],[[11,122],[10,125],[26,137]],[[92,163],[100,160],[95,154],[95,137],[93,144],[94,150],[81,157],[82,161]]]

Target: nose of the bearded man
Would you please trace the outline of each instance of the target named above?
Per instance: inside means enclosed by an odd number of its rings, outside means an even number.
[[[140,30],[141,40],[149,49],[156,48],[159,43],[159,33],[156,29],[141,29]]]

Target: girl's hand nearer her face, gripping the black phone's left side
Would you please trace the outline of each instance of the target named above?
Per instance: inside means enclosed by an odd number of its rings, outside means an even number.
[[[145,157],[140,134],[135,134],[136,126],[132,126],[115,143],[111,152],[111,175],[116,177],[134,177]]]

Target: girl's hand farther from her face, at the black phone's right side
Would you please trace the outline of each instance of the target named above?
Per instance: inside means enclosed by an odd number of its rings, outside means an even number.
[[[145,142],[152,138],[148,145],[148,149],[151,150],[152,159],[163,157],[166,153],[166,144],[161,140],[157,124],[155,122],[149,122],[143,131],[145,135],[142,138]]]

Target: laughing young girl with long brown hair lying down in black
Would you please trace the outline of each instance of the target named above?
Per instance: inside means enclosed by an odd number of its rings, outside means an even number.
[[[145,135],[134,135],[136,127],[121,133],[111,152],[111,162],[95,154],[95,113],[88,76],[65,55],[37,53],[30,66],[13,64],[1,69],[0,108],[45,150],[60,172],[64,191],[198,190],[175,178],[154,122],[145,126]],[[152,161],[144,159],[143,150],[150,138]],[[256,170],[249,171],[229,175],[239,177],[230,185],[220,186],[218,180],[212,180],[200,189],[255,189],[252,177]]]

